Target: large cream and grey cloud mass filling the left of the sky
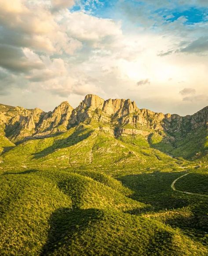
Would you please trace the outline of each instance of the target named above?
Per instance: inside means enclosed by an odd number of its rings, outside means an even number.
[[[62,97],[102,91],[95,78],[89,79],[90,65],[84,61],[93,56],[93,49],[111,47],[113,38],[122,35],[120,23],[71,13],[67,8],[72,5],[72,0],[8,0],[5,4],[0,0],[0,67],[7,72],[7,78],[3,76],[7,83],[1,83],[4,91],[20,84]]]

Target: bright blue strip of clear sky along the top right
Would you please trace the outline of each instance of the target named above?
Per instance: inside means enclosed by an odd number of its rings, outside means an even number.
[[[89,2],[89,3],[87,3]],[[132,8],[142,8],[145,13],[148,13],[149,19],[151,19],[151,14],[158,14],[164,20],[173,22],[180,17],[185,17],[187,19],[186,24],[201,23],[208,20],[208,4],[207,8],[204,4],[178,4],[178,1],[161,1],[161,7],[158,4],[154,4],[154,1],[138,1],[138,0],[99,0],[99,1],[77,1],[77,3],[70,8],[71,11],[80,11],[81,9],[102,18],[117,18],[123,19],[123,13],[120,10],[122,6],[131,6]],[[171,3],[169,5],[168,3]],[[167,4],[167,5],[166,5]],[[167,6],[167,8],[165,8]],[[164,8],[163,8],[164,7]],[[147,17],[148,18],[148,17]]]

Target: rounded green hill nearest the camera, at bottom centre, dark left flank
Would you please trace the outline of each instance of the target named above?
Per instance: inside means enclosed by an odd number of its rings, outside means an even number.
[[[47,255],[203,255],[206,252],[171,228],[117,211],[64,209],[55,212],[53,220],[56,225],[44,248]]]

